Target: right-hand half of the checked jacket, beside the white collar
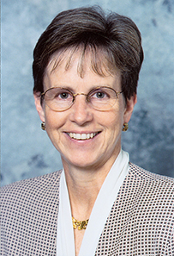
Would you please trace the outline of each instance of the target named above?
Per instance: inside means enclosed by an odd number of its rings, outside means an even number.
[[[174,255],[173,213],[174,179],[129,163],[96,255],[105,251],[108,240],[111,255],[123,255],[125,248],[129,255]]]

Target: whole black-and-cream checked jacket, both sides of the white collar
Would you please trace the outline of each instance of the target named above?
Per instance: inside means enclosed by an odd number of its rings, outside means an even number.
[[[129,166],[95,255],[173,256],[174,179]],[[1,255],[56,256],[60,176],[52,172],[2,188]]]

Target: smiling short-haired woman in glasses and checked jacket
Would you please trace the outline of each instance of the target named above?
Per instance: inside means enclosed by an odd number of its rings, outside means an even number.
[[[141,34],[97,7],[56,16],[33,53],[33,94],[63,171],[3,188],[3,255],[171,255],[172,178],[129,163]]]

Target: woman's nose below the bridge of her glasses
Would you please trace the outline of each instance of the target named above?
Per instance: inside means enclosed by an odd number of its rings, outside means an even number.
[[[70,121],[78,125],[85,125],[93,120],[93,110],[87,103],[85,94],[81,93],[75,96],[75,103],[69,111],[71,111]]]

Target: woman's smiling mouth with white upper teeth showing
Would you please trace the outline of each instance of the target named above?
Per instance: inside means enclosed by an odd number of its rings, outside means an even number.
[[[72,140],[91,140],[96,137],[99,132],[66,132]]]

